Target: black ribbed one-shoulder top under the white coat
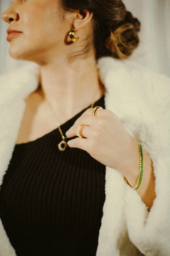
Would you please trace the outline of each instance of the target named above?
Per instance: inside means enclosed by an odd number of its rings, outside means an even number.
[[[105,108],[104,96],[94,106]],[[61,125],[63,134],[85,110]],[[61,140],[56,128],[15,145],[0,217],[17,256],[96,255],[106,166],[79,148],[59,151]]]

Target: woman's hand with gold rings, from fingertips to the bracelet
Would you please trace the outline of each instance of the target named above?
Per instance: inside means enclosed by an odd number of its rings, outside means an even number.
[[[87,151],[94,159],[113,168],[125,177],[138,176],[139,154],[138,144],[126,131],[118,117],[109,110],[100,109],[96,116],[92,109],[87,109],[75,122],[67,133],[67,137],[74,137],[79,125],[85,124],[82,136],[70,140],[70,147],[77,147]],[[136,176],[136,177],[137,177]]]

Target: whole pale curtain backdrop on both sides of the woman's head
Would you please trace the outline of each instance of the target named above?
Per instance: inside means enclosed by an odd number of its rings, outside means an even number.
[[[123,0],[141,22],[140,45],[130,57],[153,71],[170,77],[170,0]],[[11,0],[0,0],[0,15]],[[25,65],[9,57],[8,24],[0,20],[0,74]]]

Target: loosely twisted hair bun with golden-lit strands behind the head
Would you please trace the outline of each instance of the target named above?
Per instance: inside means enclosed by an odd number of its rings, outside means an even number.
[[[140,22],[127,11],[123,21],[110,25],[110,35],[106,39],[106,48],[115,58],[126,59],[139,44],[137,32],[140,30]]]

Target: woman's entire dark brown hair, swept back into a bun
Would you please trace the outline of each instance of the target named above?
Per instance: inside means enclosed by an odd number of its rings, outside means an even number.
[[[139,44],[140,22],[121,0],[60,0],[60,6],[64,12],[79,9],[93,13],[93,31],[86,39],[84,53],[79,55],[87,53],[93,42],[96,59],[102,56],[126,59]]]

